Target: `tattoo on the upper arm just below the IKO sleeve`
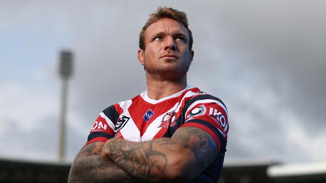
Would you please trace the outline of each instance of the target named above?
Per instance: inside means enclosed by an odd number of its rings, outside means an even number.
[[[196,173],[201,173],[217,156],[217,145],[213,137],[197,127],[182,127],[172,138],[179,138],[184,148],[191,149],[195,154]]]

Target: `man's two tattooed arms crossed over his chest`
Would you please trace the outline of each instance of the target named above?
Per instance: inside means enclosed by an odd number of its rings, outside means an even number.
[[[182,127],[172,138],[93,142],[77,154],[68,182],[165,182],[195,178],[217,155],[207,132]]]

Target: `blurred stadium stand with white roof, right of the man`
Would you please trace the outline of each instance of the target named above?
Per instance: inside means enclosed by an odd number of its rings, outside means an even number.
[[[282,164],[271,160],[224,162],[219,183],[326,183],[326,162]]]

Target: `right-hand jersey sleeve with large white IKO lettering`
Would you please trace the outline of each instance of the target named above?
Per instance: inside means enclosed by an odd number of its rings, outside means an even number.
[[[199,127],[215,140],[218,150],[227,139],[229,131],[228,110],[219,98],[203,94],[186,103],[185,123],[180,127]]]

